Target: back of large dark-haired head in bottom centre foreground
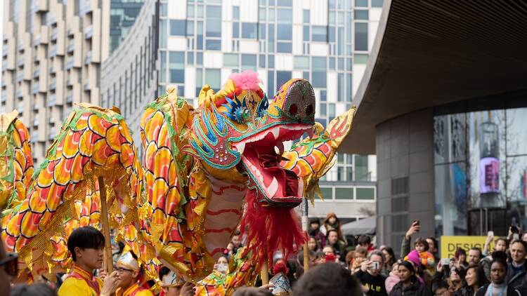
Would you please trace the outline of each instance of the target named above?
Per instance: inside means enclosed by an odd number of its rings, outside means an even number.
[[[318,264],[309,269],[293,286],[293,295],[301,296],[361,296],[360,283],[349,270],[338,263]]]

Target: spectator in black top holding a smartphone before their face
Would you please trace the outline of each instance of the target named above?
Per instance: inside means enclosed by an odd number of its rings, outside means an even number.
[[[386,293],[386,276],[381,274],[382,267],[384,265],[384,257],[380,250],[373,250],[370,255],[367,256],[362,264],[360,264],[360,270],[356,272],[355,276],[362,283],[367,292],[367,296],[387,296]]]

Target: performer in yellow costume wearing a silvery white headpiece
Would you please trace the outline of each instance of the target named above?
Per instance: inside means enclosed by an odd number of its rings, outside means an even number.
[[[141,267],[134,253],[126,252],[117,260],[117,272],[119,274],[119,288],[117,296],[154,296],[154,293],[138,285]]]

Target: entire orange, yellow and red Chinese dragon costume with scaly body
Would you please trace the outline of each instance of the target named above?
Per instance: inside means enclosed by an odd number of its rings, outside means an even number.
[[[254,72],[231,74],[217,92],[203,86],[197,108],[169,89],[141,118],[142,163],[119,109],[79,105],[32,175],[27,129],[16,114],[1,117],[6,249],[20,254],[32,277],[67,268],[67,236],[75,227],[100,227],[98,196],[105,190],[110,227],[145,264],[147,277],[164,264],[200,281],[201,295],[230,295],[252,284],[275,251],[287,256],[304,243],[294,207],[320,195],[318,179],[331,168],[355,110],[324,130],[315,123],[308,81],[287,81],[271,100],[260,82]],[[296,141],[289,151],[286,141]],[[238,227],[247,245],[226,278],[214,278],[214,262]]]

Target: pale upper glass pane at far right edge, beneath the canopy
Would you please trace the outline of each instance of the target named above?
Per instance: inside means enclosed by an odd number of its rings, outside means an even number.
[[[527,108],[507,109],[507,155],[527,154]]]

